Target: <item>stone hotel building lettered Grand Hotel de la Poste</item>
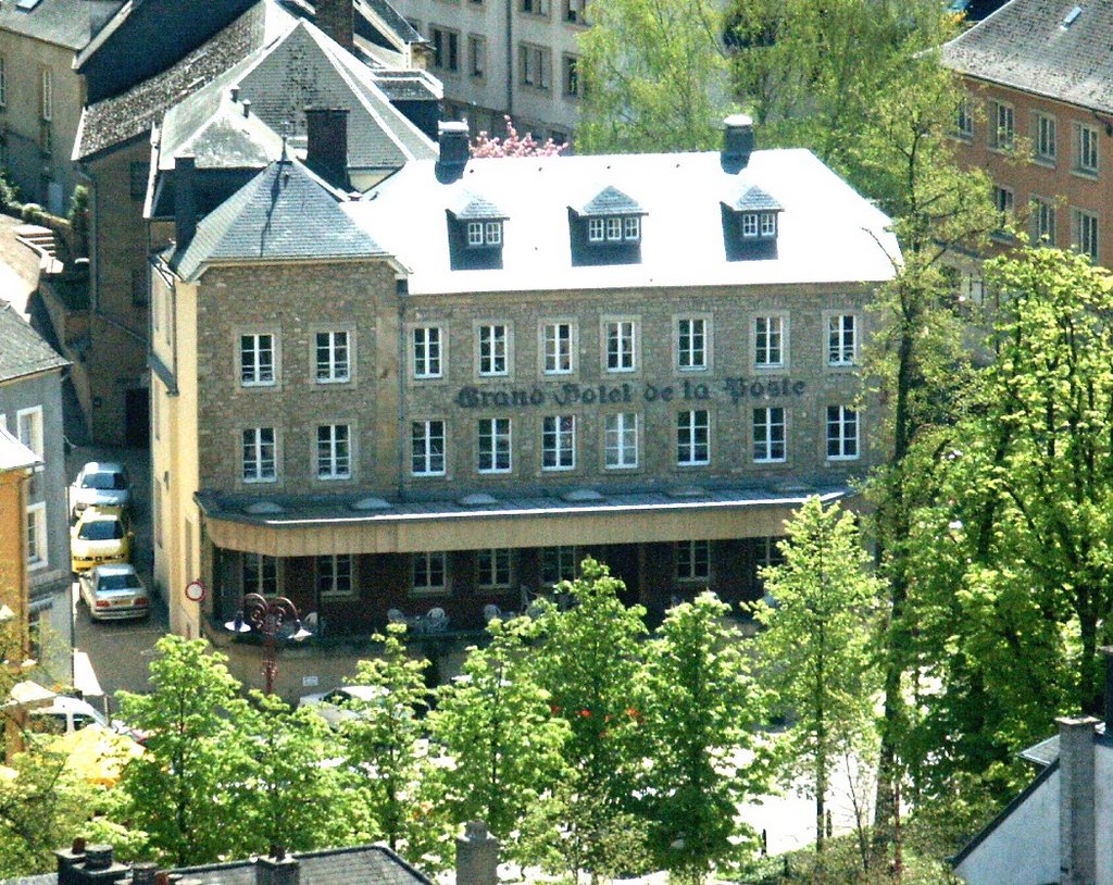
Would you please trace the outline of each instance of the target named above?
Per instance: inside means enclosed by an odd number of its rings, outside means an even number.
[[[439,159],[362,195],[331,119],[199,222],[176,184],[151,332],[174,629],[254,591],[326,638],[474,631],[589,553],[651,614],[760,596],[785,519],[874,459],[855,366],[888,219],[746,118],[719,153],[545,159],[469,159],[442,124]]]

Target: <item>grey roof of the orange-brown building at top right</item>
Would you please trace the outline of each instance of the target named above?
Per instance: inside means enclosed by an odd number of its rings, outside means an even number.
[[[1075,6],[1082,14],[1063,22]],[[947,67],[1084,108],[1113,111],[1113,2],[1012,0],[942,49]]]

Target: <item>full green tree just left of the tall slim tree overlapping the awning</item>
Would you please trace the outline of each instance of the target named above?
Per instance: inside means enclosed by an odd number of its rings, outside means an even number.
[[[647,648],[643,740],[650,845],[672,876],[702,883],[752,853],[739,803],[765,791],[765,691],[730,607],[711,592],[670,609]]]

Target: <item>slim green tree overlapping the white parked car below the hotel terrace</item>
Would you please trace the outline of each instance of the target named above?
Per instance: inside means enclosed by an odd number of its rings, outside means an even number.
[[[351,680],[381,691],[371,700],[353,698],[357,716],[341,724],[341,736],[355,794],[357,836],[383,839],[411,863],[431,868],[443,861],[445,830],[422,791],[429,779],[427,745],[418,715],[429,707],[429,661],[412,658],[404,625],[390,625],[382,656],[362,660]]]

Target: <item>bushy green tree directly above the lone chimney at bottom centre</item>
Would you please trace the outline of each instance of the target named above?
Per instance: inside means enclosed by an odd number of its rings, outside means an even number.
[[[567,776],[569,727],[529,666],[534,622],[495,619],[487,631],[490,643],[469,649],[463,673],[441,687],[430,730],[453,760],[441,774],[453,823],[485,820],[513,854],[526,813]]]

